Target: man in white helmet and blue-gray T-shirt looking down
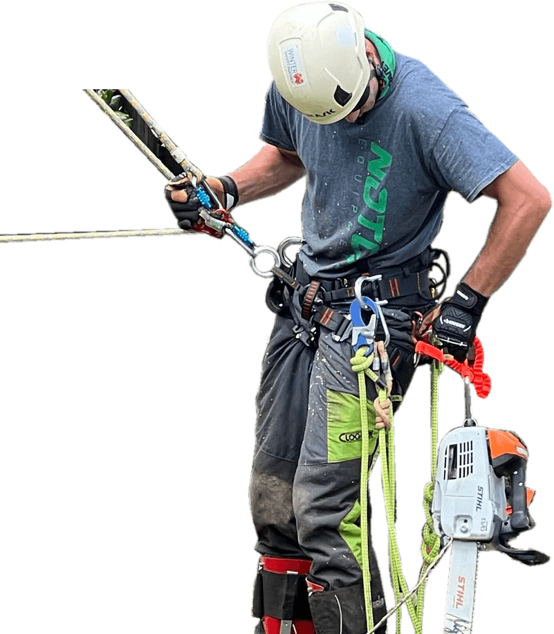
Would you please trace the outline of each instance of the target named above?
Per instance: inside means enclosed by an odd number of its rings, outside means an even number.
[[[416,371],[414,325],[420,334],[432,329],[434,341],[465,359],[488,300],[526,255],[552,198],[461,98],[425,64],[365,28],[351,7],[315,2],[287,9],[270,30],[267,54],[273,82],[264,145],[238,170],[207,179],[230,208],[306,178],[306,244],[291,272],[300,290],[276,284],[269,293],[278,314],[262,365],[250,481],[256,550],[265,557],[254,615],[260,634],[291,627],[307,634],[314,626],[317,634],[362,634],[369,606],[359,556],[358,383],[345,336],[351,331],[345,320],[322,323],[317,302],[347,315],[360,276],[382,276],[358,284],[364,296],[388,302],[391,399],[368,408],[375,428],[387,425]],[[431,245],[452,191],[468,203],[495,199],[497,212],[474,264],[438,304],[428,275],[437,255]],[[165,197],[178,226],[190,227],[199,206],[190,183],[176,179]],[[382,338],[378,323],[376,339]],[[367,390],[376,400],[373,383]],[[342,442],[349,433],[354,442]],[[370,546],[378,622],[385,592]]]

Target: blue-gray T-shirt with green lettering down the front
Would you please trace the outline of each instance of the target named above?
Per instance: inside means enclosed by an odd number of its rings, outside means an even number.
[[[313,123],[270,85],[260,139],[297,152],[306,168],[298,257],[314,277],[420,255],[441,228],[449,192],[471,203],[517,161],[425,64],[389,55],[394,77],[363,125]]]

